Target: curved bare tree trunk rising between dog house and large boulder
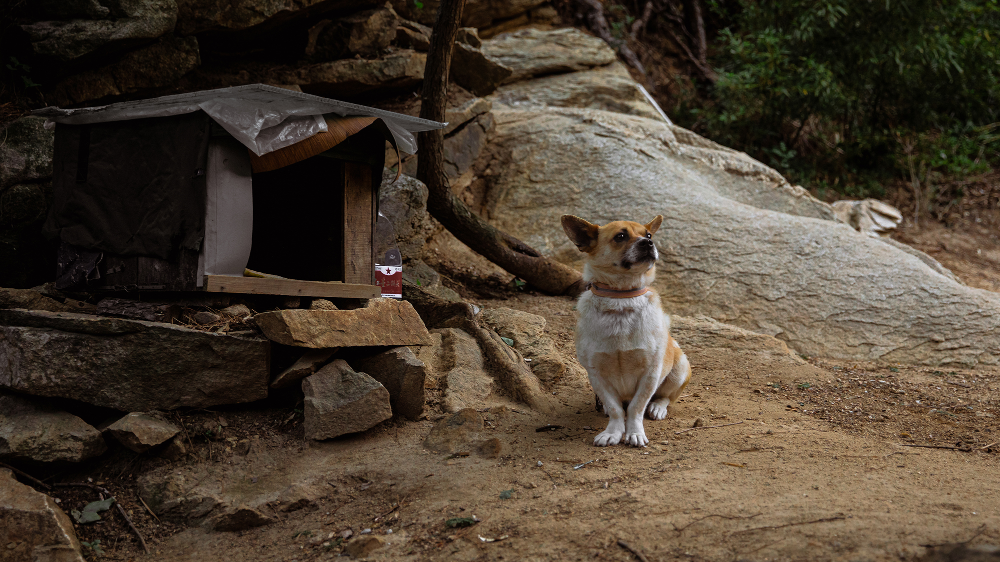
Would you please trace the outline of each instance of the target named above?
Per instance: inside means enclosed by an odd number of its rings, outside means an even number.
[[[420,117],[424,119],[444,121],[452,47],[464,7],[465,0],[443,0],[438,8],[424,67],[420,106]],[[417,143],[420,147],[417,178],[427,184],[427,210],[456,238],[546,293],[575,295],[583,290],[579,272],[543,257],[524,242],[488,224],[455,196],[444,172],[441,129],[417,133]]]

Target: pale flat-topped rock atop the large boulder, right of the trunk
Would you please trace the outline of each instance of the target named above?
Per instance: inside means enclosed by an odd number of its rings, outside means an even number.
[[[625,65],[618,61],[591,70],[553,74],[500,86],[489,99],[518,109],[533,106],[580,107],[661,119]]]

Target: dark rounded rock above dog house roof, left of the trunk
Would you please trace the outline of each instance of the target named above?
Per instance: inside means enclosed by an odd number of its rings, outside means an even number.
[[[396,38],[398,16],[388,5],[331,21],[316,35],[311,59],[331,61],[378,56]]]

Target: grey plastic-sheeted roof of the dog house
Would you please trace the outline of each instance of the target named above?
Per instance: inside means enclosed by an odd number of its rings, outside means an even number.
[[[399,149],[410,154],[417,151],[413,133],[441,129],[447,125],[265,84],[203,90],[99,107],[46,107],[32,113],[46,117],[48,128],[50,123],[88,125],[182,115],[199,110],[211,116],[257,156],[290,146],[326,130],[326,123],[320,118],[323,114],[379,118],[389,128]]]

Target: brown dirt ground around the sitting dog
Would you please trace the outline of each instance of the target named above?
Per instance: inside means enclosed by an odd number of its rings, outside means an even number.
[[[971,261],[966,252],[949,262],[947,253],[968,240],[925,235],[913,239],[937,240],[943,250],[932,255],[945,265]],[[995,237],[984,236],[994,245],[976,259],[996,250]],[[574,356],[572,299],[506,289],[499,277],[474,291],[466,283],[492,273],[477,263],[451,264],[447,282],[482,308],[544,316],[557,349]],[[978,278],[956,273],[970,284]],[[368,534],[384,542],[368,559],[414,561],[918,560],[946,543],[1000,543],[1000,369],[803,360],[674,336],[693,380],[666,420],[647,420],[645,448],[592,445],[606,418],[586,379],[575,377],[547,389],[558,401],[552,413],[493,397],[506,406],[484,412],[486,437],[502,443],[499,458],[426,450],[423,439],[444,417],[433,408],[419,422],[307,442],[291,397],[185,413],[186,427],[219,431],[196,435],[192,456],[173,464],[120,452],[51,481],[103,483],[152,551],[143,556],[112,514],[78,526],[83,541],[103,537],[103,560],[328,560]],[[698,419],[703,426],[691,429]],[[233,473],[242,462],[235,444],[245,438],[259,439],[266,460]],[[272,525],[206,532],[149,515],[135,483],[149,470],[242,475],[234,486],[318,476],[329,493],[306,509],[271,506]],[[67,511],[97,499],[81,488],[52,494]],[[460,518],[474,524],[447,526]]]

